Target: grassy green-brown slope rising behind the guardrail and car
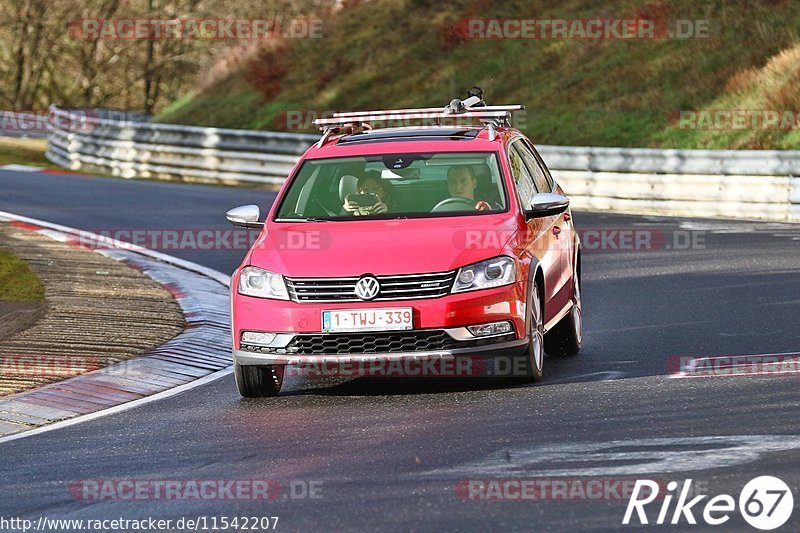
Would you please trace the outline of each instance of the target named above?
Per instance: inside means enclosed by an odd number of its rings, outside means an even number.
[[[708,39],[463,40],[465,17],[708,19]],[[800,148],[795,131],[678,129],[693,109],[800,110],[800,2],[372,0],[227,66],[165,122],[279,129],[285,110],[442,105],[473,84],[525,103],[543,144]],[[783,52],[783,53],[782,53]]]

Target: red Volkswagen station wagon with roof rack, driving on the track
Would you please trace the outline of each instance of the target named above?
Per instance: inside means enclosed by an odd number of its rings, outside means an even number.
[[[231,285],[242,396],[276,395],[286,365],[321,362],[503,357],[538,381],[545,351],[580,350],[569,200],[510,126],[522,106],[481,96],[319,119],[266,220],[255,205],[227,213],[263,228]],[[417,119],[434,125],[369,127]]]

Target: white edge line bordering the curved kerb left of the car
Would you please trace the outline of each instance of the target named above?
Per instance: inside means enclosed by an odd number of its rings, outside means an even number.
[[[70,233],[70,234],[73,234],[73,235],[78,235],[82,239],[87,239],[89,241],[102,242],[102,243],[107,244],[107,245],[112,246],[112,247],[119,247],[119,248],[131,250],[131,251],[135,251],[137,253],[140,253],[140,254],[148,256],[148,257],[152,257],[154,259],[158,259],[158,260],[163,261],[165,263],[169,263],[169,264],[184,268],[186,270],[190,270],[192,272],[197,272],[198,274],[203,274],[205,276],[208,276],[208,277],[214,279],[215,281],[221,283],[222,285],[224,285],[226,287],[230,286],[230,276],[227,276],[227,275],[225,275],[222,272],[219,272],[217,270],[213,270],[211,268],[205,267],[203,265],[199,265],[197,263],[192,263],[191,261],[185,261],[185,260],[179,259],[177,257],[172,257],[170,255],[162,254],[160,252],[155,252],[153,250],[149,250],[149,249],[141,247],[141,246],[136,246],[136,245],[133,245],[133,244],[128,244],[128,243],[125,243],[125,242],[122,242],[122,241],[118,241],[116,239],[103,237],[101,235],[97,235],[96,233],[91,233],[91,232],[88,232],[88,231],[78,230],[78,229],[75,229],[75,228],[70,228],[68,226],[62,226],[60,224],[53,224],[52,222],[47,222],[47,221],[39,220],[39,219],[36,219],[36,218],[25,217],[25,216],[17,215],[17,214],[14,214],[14,213],[8,213],[6,211],[0,211],[0,220],[26,222],[28,224],[33,224],[33,225],[36,225],[36,226],[40,226],[42,228],[49,228],[49,229],[61,231],[61,232],[64,232],[64,233]],[[200,379],[196,379],[196,380],[191,381],[189,383],[186,383],[184,385],[180,385],[180,386],[175,387],[173,389],[162,391],[162,392],[153,394],[151,396],[147,396],[145,398],[140,398],[138,400],[133,400],[133,401],[130,401],[130,402],[127,402],[127,403],[123,403],[123,404],[114,406],[114,407],[110,407],[108,409],[103,409],[102,411],[96,411],[96,412],[90,413],[88,415],[81,415],[81,416],[77,416],[75,418],[70,418],[69,420],[63,420],[61,422],[55,422],[55,423],[47,425],[47,426],[41,426],[41,427],[38,427],[38,428],[35,428],[35,429],[23,431],[21,433],[14,433],[12,435],[7,435],[5,437],[0,437],[0,444],[2,444],[4,442],[9,442],[9,441],[12,441],[12,440],[17,440],[17,439],[22,439],[22,438],[25,438],[25,437],[30,437],[32,435],[39,435],[40,433],[46,433],[48,431],[61,429],[61,428],[64,428],[64,427],[72,426],[74,424],[80,424],[81,422],[86,422],[86,421],[89,421],[89,420],[95,420],[97,418],[101,418],[101,417],[104,417],[104,416],[116,414],[116,413],[119,413],[119,412],[122,412],[122,411],[127,411],[128,409],[133,409],[135,407],[138,407],[140,405],[144,405],[144,404],[147,404],[147,403],[150,403],[150,402],[155,402],[155,401],[158,401],[158,400],[162,400],[164,398],[169,398],[170,396],[174,396],[176,394],[180,394],[181,392],[187,391],[189,389],[193,389],[195,387],[200,387],[202,385],[205,385],[206,383],[210,383],[212,381],[215,381],[217,379],[225,377],[226,375],[230,374],[232,371],[233,371],[233,367],[230,366],[228,368],[224,368],[222,370],[218,370],[217,372],[214,372],[212,374],[208,374],[207,376],[204,376],[204,377],[202,377]]]

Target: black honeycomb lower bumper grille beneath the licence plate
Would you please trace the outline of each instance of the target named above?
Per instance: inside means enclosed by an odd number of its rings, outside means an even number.
[[[250,352],[287,355],[346,355],[370,353],[411,353],[474,348],[513,341],[513,333],[456,341],[444,330],[415,330],[382,333],[300,333],[285,349],[241,345]]]

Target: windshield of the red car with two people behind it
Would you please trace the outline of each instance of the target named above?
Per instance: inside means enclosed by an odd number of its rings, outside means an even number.
[[[506,210],[493,152],[309,159],[277,221],[481,215]]]

